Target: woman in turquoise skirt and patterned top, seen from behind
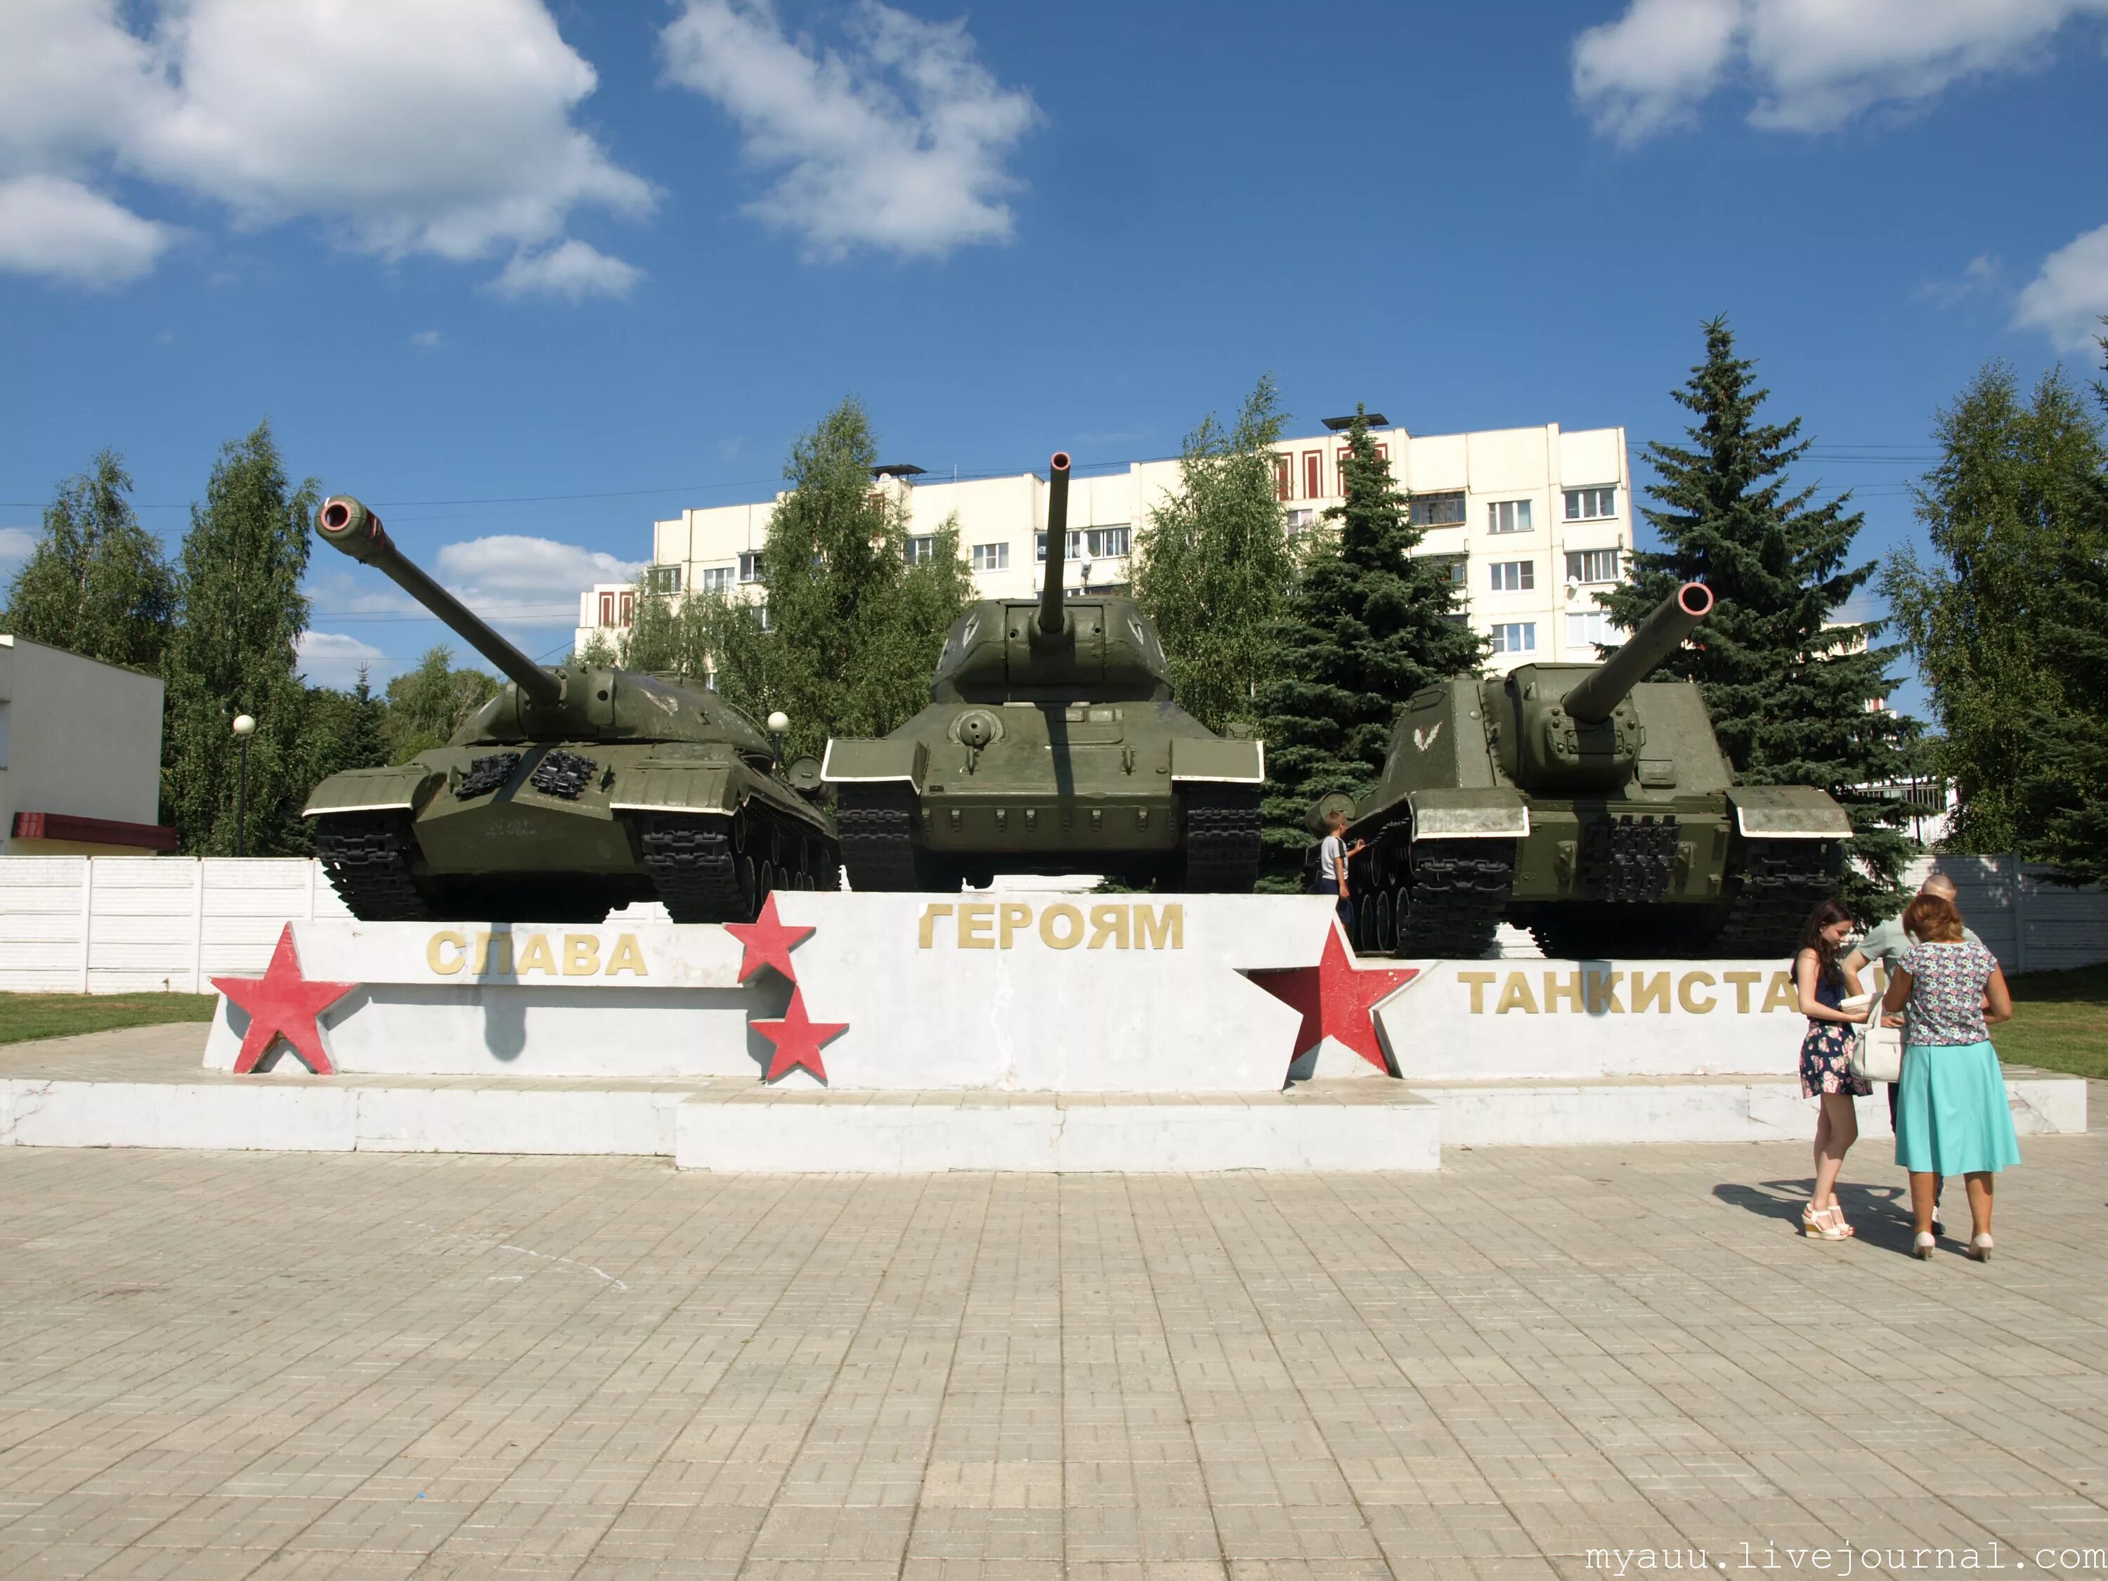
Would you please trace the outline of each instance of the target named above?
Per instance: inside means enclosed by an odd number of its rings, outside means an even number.
[[[1990,1027],[2009,1020],[1998,959],[1963,938],[1963,915],[1946,896],[1920,894],[1904,909],[1904,951],[1882,1012],[1904,1012],[1904,1079],[1895,1096],[1895,1162],[1910,1170],[1918,1221],[1912,1256],[1929,1258],[1933,1191],[1941,1174],[1969,1183],[1969,1256],[1990,1261],[1990,1178],[2019,1164],[2005,1075]]]

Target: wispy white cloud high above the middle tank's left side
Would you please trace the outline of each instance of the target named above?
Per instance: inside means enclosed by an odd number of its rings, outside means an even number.
[[[858,0],[847,48],[820,48],[788,38],[769,0],[687,0],[660,44],[668,76],[740,124],[746,158],[784,169],[748,213],[812,255],[1010,240],[1020,183],[1003,160],[1039,108],[974,59],[963,19]]]

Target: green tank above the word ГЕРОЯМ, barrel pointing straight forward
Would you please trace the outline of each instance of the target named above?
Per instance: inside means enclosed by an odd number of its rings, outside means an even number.
[[[883,740],[835,738],[856,890],[957,890],[997,873],[1102,873],[1166,890],[1258,877],[1261,742],[1172,702],[1132,599],[1062,597],[1069,457],[1048,470],[1037,601],[984,599],[944,639],[930,706]]]

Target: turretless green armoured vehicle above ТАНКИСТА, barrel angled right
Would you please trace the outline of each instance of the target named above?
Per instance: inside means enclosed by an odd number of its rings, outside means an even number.
[[[1792,953],[1851,822],[1735,784],[1699,687],[1644,679],[1710,609],[1686,582],[1602,664],[1417,691],[1347,828],[1358,944],[1476,957],[1505,919],[1558,959]]]

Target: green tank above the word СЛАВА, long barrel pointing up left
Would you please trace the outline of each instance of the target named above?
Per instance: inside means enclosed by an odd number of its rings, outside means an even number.
[[[314,786],[304,816],[354,917],[599,921],[662,900],[675,921],[746,921],[769,890],[837,887],[820,765],[784,784],[767,736],[715,691],[535,664],[356,500],[327,500],[316,531],[510,677],[445,746]]]

